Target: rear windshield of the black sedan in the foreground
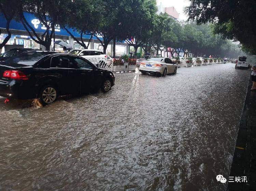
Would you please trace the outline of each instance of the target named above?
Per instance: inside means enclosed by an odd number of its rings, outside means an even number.
[[[24,52],[24,53],[18,54],[17,56],[13,56],[11,58],[6,59],[5,63],[6,64],[15,63],[15,64],[32,66],[44,56],[45,55],[39,54],[39,53]]]

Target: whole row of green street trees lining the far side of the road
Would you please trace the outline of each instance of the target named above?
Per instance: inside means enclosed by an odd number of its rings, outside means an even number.
[[[55,25],[66,30],[85,49],[83,35],[94,36],[103,46],[103,52],[113,42],[126,41],[135,52],[142,47],[147,53],[151,48],[160,51],[171,50],[186,55],[221,56],[230,51],[231,43],[219,34],[214,34],[209,23],[197,26],[191,22],[182,27],[166,13],[157,15],[155,0],[0,0],[0,13],[6,19],[8,36],[0,49],[11,37],[9,24],[12,19],[21,22],[30,37],[50,49],[55,38]],[[14,8],[14,4],[15,6]],[[16,8],[18,7],[18,8]],[[24,12],[30,12],[46,27],[44,34],[35,32],[26,20]],[[80,33],[75,37],[73,31]],[[1,31],[0,31],[1,32]],[[170,49],[171,48],[171,49]]]

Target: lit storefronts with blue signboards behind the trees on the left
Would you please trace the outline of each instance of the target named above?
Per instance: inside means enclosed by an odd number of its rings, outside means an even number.
[[[33,14],[24,12],[24,16],[30,26],[33,28],[33,30],[38,34],[42,35],[46,28],[45,26],[37,19],[34,17]],[[0,14],[0,29],[2,30],[2,33],[0,35],[0,42],[2,42],[7,35],[6,32],[6,20],[2,14]],[[74,31],[73,29],[68,29],[73,36],[75,36],[77,39],[80,39],[80,33]],[[17,22],[16,20],[12,20],[10,23],[10,31],[12,33],[12,37],[10,40],[7,42],[7,45],[23,45],[24,48],[32,48],[32,49],[40,49],[40,50],[45,50],[45,47],[37,44],[28,34],[26,29],[24,28],[23,24],[20,22]],[[51,31],[50,31],[51,32]],[[32,32],[31,32],[32,33]],[[32,33],[33,34],[33,33]],[[88,41],[90,39],[90,35],[83,35],[84,43],[88,45]],[[36,37],[34,37],[36,38]],[[100,37],[101,40],[103,40]],[[68,42],[73,48],[75,49],[84,49],[80,44],[78,44],[70,35],[69,33],[61,29],[58,25],[55,26],[55,41],[56,40],[63,40],[65,42]],[[53,46],[55,46],[55,51],[63,51],[63,47],[54,44],[53,38],[52,38],[52,43],[51,43],[51,48],[50,50],[53,50]],[[112,52],[112,47],[113,47],[113,42],[108,45],[108,48],[106,49],[106,54],[108,55],[113,55]],[[88,49],[96,49],[103,51],[103,47],[100,44],[99,40],[96,37],[93,37],[91,39],[90,45]],[[116,55],[120,56],[122,54],[127,54],[128,50],[128,45],[123,42],[117,42],[116,45]],[[4,52],[4,48],[0,50],[0,52]],[[141,52],[140,52],[141,54]]]

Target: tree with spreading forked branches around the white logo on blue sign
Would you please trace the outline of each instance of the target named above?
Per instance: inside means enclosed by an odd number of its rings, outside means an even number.
[[[50,50],[56,24],[61,23],[61,20],[66,20],[67,15],[64,13],[70,0],[23,0],[20,2],[19,19],[24,28],[35,42],[43,45],[46,50]],[[31,27],[24,16],[24,11],[33,13],[39,22],[44,25],[45,32],[42,35],[36,33]]]

